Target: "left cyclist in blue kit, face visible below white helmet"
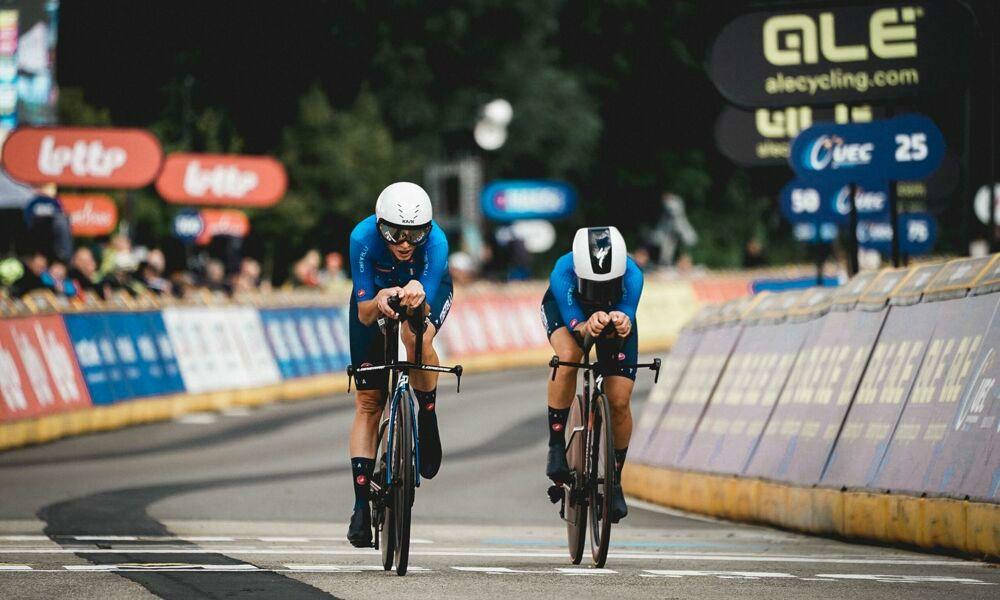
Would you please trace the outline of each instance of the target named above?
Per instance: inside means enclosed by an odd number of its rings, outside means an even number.
[[[423,337],[423,362],[439,365],[432,342],[448,316],[452,301],[448,274],[448,240],[431,219],[431,200],[419,185],[398,182],[385,188],[375,203],[375,214],[358,223],[351,232],[351,292],[349,311],[351,364],[380,365],[384,341],[379,316],[396,318],[389,305],[399,298],[401,306],[417,308],[426,300],[427,318]],[[403,345],[414,357],[415,333],[409,321],[400,324]],[[354,513],[347,539],[354,546],[371,545],[369,484],[375,467],[375,439],[385,406],[385,371],[358,374],[354,423],[351,426],[351,472],[354,478]],[[441,466],[441,440],[435,413],[437,373],[412,371],[410,386],[420,409],[417,427],[420,440],[420,475],[430,479]]]

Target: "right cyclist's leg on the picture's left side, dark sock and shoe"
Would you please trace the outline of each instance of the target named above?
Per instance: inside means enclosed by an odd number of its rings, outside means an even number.
[[[559,308],[551,292],[546,292],[542,299],[542,324],[549,337],[549,344],[559,360],[579,362],[583,358],[583,350],[576,338],[562,322]],[[559,367],[555,379],[548,381],[548,430],[549,456],[545,474],[556,483],[566,481],[569,476],[569,465],[566,463],[566,421],[569,417],[569,407],[576,395],[576,369]]]

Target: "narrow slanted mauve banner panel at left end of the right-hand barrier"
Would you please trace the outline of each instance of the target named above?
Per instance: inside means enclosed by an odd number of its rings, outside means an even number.
[[[733,324],[705,331],[677,384],[673,399],[645,452],[649,464],[675,466],[698,427],[716,382],[739,341],[743,326]]]

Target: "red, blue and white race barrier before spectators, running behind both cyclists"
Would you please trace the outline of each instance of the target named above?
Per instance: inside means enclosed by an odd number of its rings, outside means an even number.
[[[649,278],[637,316],[641,347],[669,347],[700,306],[747,295],[749,281]],[[544,291],[541,282],[458,288],[435,340],[440,354],[467,372],[545,365]],[[0,298],[0,450],[346,391],[350,290],[342,292],[234,301],[205,294],[185,304]]]

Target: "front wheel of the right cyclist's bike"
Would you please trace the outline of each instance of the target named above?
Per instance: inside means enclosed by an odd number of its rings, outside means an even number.
[[[611,432],[611,408],[604,394],[594,399],[590,459],[590,552],[594,566],[603,568],[611,542],[611,494],[615,484],[615,443]]]

